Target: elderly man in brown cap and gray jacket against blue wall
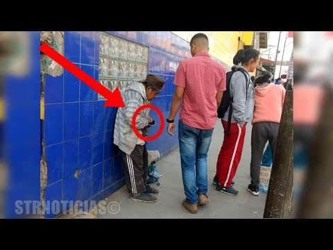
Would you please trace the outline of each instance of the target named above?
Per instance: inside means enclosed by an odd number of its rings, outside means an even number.
[[[114,125],[114,144],[116,144],[123,158],[125,173],[130,199],[133,201],[155,202],[158,190],[146,184],[148,178],[148,153],[146,142],[135,135],[132,127],[132,119],[135,111],[145,104],[150,103],[163,88],[164,79],[148,74],[144,81],[129,85],[123,92],[124,108],[118,108]],[[148,108],[139,112],[135,118],[135,126],[140,134],[144,134],[146,128],[155,124],[148,116]]]

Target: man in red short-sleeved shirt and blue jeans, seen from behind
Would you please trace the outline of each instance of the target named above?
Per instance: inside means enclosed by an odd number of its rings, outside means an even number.
[[[197,203],[207,197],[207,152],[216,124],[216,110],[225,90],[225,67],[208,54],[207,35],[198,33],[189,42],[192,58],[182,60],[176,71],[175,93],[167,118],[168,133],[174,135],[174,119],[182,103],[178,122],[178,138],[182,167],[182,183],[189,213],[198,213]]]

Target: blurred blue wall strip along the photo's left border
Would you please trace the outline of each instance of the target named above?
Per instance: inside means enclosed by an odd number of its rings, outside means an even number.
[[[15,201],[40,200],[39,47],[40,33],[29,32],[28,71],[24,76],[5,78],[6,120],[3,140],[8,166],[4,214],[6,218],[31,215],[32,203],[30,206],[16,207]]]

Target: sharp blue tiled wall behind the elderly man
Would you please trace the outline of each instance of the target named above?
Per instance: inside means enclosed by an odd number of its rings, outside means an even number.
[[[173,79],[178,63],[190,56],[188,42],[169,31],[109,33],[149,47],[148,73],[167,81],[152,103],[160,108],[165,120],[175,90]],[[99,78],[99,35],[99,32],[65,32],[65,57],[96,80]],[[112,143],[117,108],[104,108],[105,101],[98,101],[96,92],[66,70],[59,77],[46,76],[44,93],[46,201],[99,201],[121,188],[125,184],[121,158]],[[154,110],[150,115],[157,123],[160,121]],[[150,134],[154,135],[157,130],[157,126],[151,128]],[[160,138],[148,142],[148,150],[157,149],[161,156],[176,147],[178,131],[171,137],[166,128]],[[77,169],[78,178],[74,176]]]

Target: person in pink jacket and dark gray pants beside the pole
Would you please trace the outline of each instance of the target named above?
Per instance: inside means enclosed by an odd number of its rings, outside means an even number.
[[[265,74],[255,80],[255,108],[251,135],[251,183],[248,191],[259,195],[260,163],[267,140],[271,144],[273,159],[278,141],[282,106],[286,90],[282,85],[270,83],[271,75]]]

